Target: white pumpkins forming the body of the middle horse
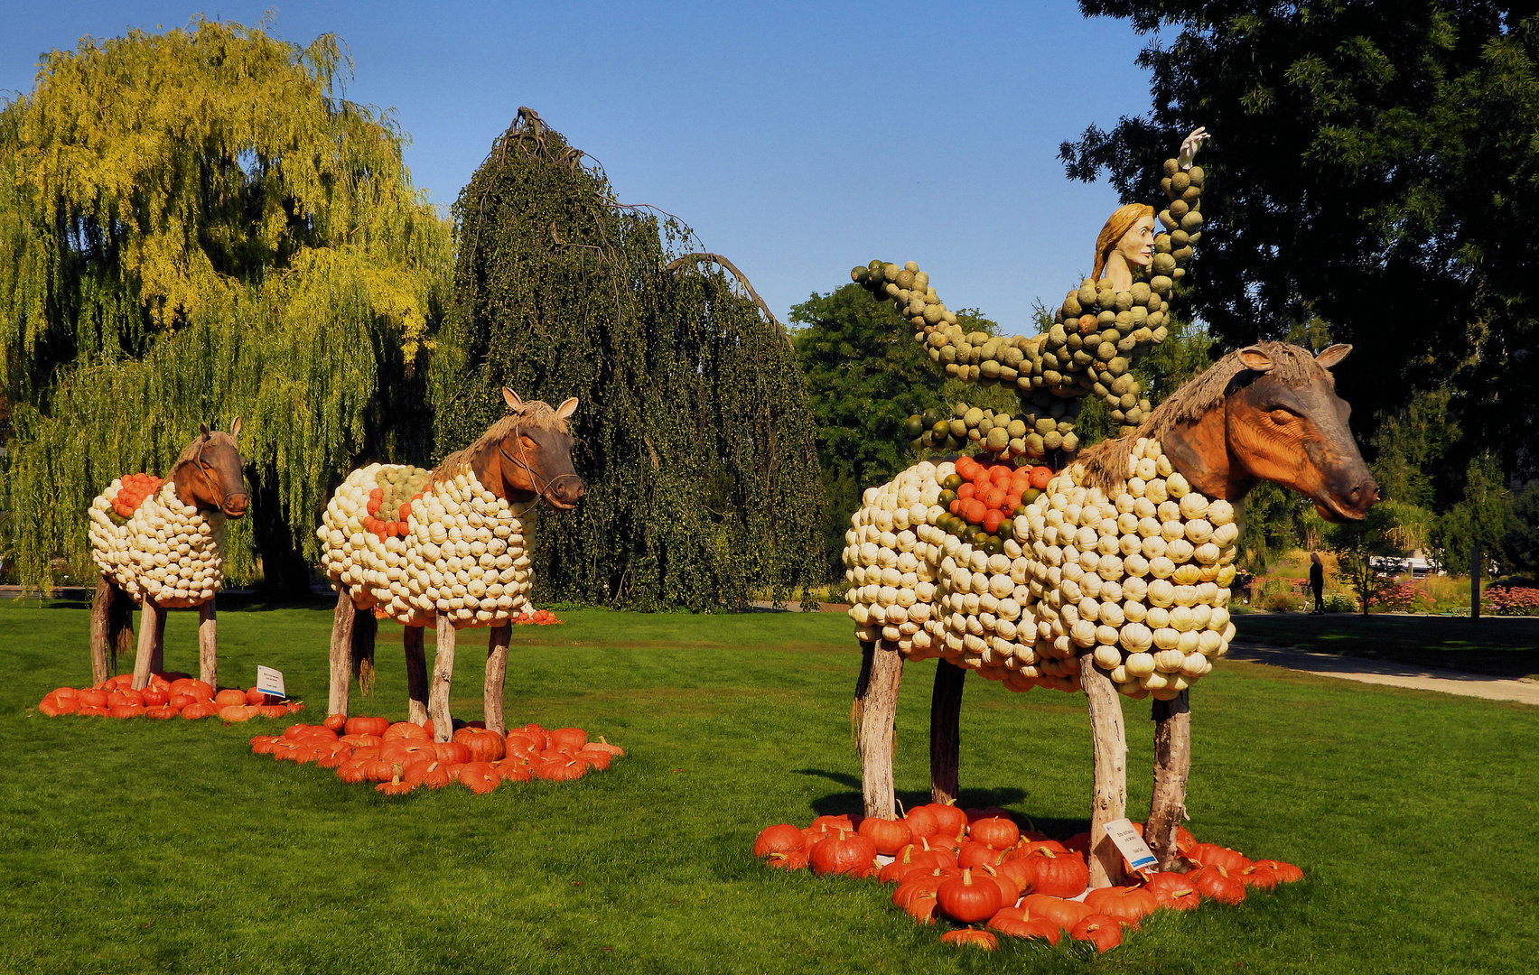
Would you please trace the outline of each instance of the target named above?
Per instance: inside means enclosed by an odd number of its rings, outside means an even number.
[[[403,535],[363,527],[376,488],[386,518],[411,503]],[[428,626],[439,614],[456,627],[497,626],[528,609],[523,523],[469,471],[434,483],[422,468],[360,468],[331,495],[315,534],[334,587],[406,626]]]

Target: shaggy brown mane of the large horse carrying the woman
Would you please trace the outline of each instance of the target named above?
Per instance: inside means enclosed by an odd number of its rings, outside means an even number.
[[[1336,384],[1331,371],[1314,361],[1314,354],[1285,341],[1257,341],[1254,346],[1273,361],[1273,369],[1267,374],[1293,388],[1311,386],[1324,381],[1327,386]],[[1100,488],[1107,497],[1119,491],[1128,480],[1127,458],[1139,437],[1163,440],[1180,423],[1200,420],[1228,395],[1230,383],[1236,375],[1247,371],[1236,349],[1208,366],[1190,383],[1170,394],[1156,406],[1147,420],[1131,434],[1108,438],[1080,454],[1077,463],[1085,469],[1085,486]]]

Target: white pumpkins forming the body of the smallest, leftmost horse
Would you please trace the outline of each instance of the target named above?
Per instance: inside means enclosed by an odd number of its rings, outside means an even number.
[[[225,583],[225,515],[183,504],[166,481],[128,518],[112,507],[122,480],[91,503],[91,558],[135,603],[182,609],[214,598]]]

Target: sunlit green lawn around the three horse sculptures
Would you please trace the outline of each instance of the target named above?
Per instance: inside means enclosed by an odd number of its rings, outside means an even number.
[[[629,757],[569,784],[386,798],[248,755],[279,723],[45,718],[46,690],[88,678],[86,615],[0,606],[0,970],[1533,970],[1539,709],[1222,663],[1193,692],[1190,826],[1307,878],[1162,912],[1105,957],[1007,938],[985,955],[940,944],[871,881],[749,854],[766,824],[859,810],[846,620],[563,615],[516,629],[509,720],[577,724]],[[228,683],[280,667],[320,720],[329,614],[219,624]],[[171,667],[192,667],[194,627],[171,615]],[[482,638],[460,641],[463,718],[480,710]],[[356,714],[403,717],[392,641],[382,627],[379,692]],[[931,671],[911,667],[899,710],[905,801],[928,787]],[[963,803],[1082,829],[1082,698],[977,678],[966,698]],[[1148,704],[1128,703],[1128,721],[1137,814]]]

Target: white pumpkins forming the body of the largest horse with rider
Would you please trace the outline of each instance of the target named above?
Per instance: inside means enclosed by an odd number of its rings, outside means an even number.
[[[936,527],[937,506],[903,512],[906,547],[903,535],[873,535],[896,524],[897,486],[925,495],[914,480],[928,478],[934,497],[953,471],[917,464],[866,492],[845,549],[860,640],[893,641],[910,660],[945,657],[1013,690],[1076,690],[1088,657],[1120,692],[1160,698],[1185,690],[1228,651],[1234,507],[1193,491],[1159,441],[1133,444],[1125,488],[1113,498],[1087,488],[1079,464],[1056,475],[1014,520],[1000,554]],[[913,571],[888,594],[886,566],[902,569],[905,554]],[[908,595],[906,578],[914,580]]]

